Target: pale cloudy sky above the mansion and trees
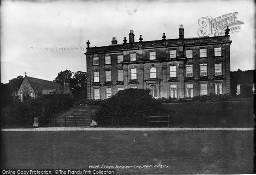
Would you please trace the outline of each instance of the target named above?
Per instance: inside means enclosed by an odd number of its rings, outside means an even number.
[[[54,80],[66,69],[86,72],[90,47],[118,43],[133,29],[135,42],[198,37],[201,17],[239,12],[240,32],[230,33],[231,71],[255,69],[253,0],[2,0],[1,83],[19,75]]]

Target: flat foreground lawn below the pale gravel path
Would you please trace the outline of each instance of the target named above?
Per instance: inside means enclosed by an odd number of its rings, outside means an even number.
[[[2,132],[1,168],[167,165],[117,174],[249,174],[253,131]]]

